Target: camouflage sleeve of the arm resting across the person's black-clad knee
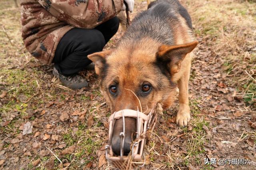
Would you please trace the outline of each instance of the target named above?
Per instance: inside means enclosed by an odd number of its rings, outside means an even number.
[[[94,28],[116,16],[123,0],[38,0],[50,14],[60,21],[78,27]]]

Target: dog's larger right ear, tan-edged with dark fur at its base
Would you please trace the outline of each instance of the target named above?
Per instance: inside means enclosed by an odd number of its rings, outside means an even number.
[[[161,45],[156,53],[158,62],[167,64],[171,74],[180,70],[180,64],[198,44],[198,41],[182,45]]]

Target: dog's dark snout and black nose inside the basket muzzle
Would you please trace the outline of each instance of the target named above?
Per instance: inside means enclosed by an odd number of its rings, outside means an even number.
[[[125,118],[125,136],[124,136],[124,155],[128,155],[130,152],[130,146],[132,144],[132,141],[136,138],[136,119],[132,117],[126,117]],[[121,137],[120,133],[123,132],[123,119],[117,119],[113,128],[113,135],[111,139],[111,147],[117,156],[120,156],[121,151]]]

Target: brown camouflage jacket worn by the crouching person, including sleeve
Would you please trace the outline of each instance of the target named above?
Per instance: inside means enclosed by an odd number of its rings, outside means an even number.
[[[22,38],[44,64],[52,63],[63,35],[74,27],[92,29],[116,16],[123,0],[21,0]]]

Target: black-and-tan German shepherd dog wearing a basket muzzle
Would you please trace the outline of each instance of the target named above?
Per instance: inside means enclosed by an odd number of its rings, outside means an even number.
[[[176,123],[190,120],[188,80],[192,50],[198,41],[192,35],[191,18],[178,0],[157,0],[138,14],[116,49],[89,55],[100,78],[100,88],[112,113],[137,110],[140,104],[148,114],[157,103],[172,105],[179,88]],[[132,92],[131,92],[132,91]],[[134,93],[133,93],[134,92]],[[134,95],[136,94],[136,96]],[[122,119],[116,120],[112,149],[120,154]],[[125,118],[124,154],[130,152],[135,138],[136,119]]]

